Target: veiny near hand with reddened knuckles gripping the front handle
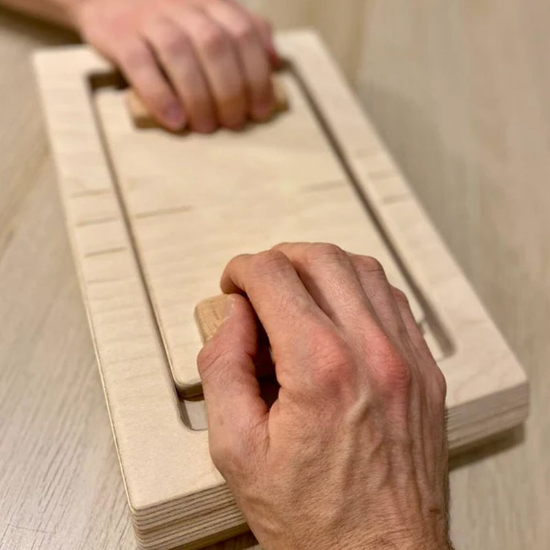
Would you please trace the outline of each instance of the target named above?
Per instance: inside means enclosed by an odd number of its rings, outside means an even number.
[[[225,320],[197,359],[210,454],[262,547],[450,548],[445,380],[380,264],[283,244],[234,258],[221,289]],[[281,385],[271,409],[254,311]]]

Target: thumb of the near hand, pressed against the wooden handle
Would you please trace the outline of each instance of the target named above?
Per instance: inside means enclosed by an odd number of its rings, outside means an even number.
[[[242,296],[228,296],[225,320],[197,357],[213,459],[267,421],[254,367],[257,346],[252,307]]]

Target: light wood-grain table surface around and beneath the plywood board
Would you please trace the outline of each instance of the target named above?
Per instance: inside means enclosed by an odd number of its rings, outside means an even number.
[[[525,432],[453,465],[457,549],[547,547],[550,4],[249,3],[319,28],[531,378]],[[67,39],[0,10],[3,550],[135,549],[28,61]]]

